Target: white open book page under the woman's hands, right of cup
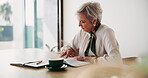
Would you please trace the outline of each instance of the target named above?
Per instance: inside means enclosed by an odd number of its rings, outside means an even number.
[[[76,66],[76,67],[90,64],[90,62],[78,61],[75,58],[71,58],[71,57],[64,59],[64,60],[66,61],[66,63],[68,63],[72,66]]]

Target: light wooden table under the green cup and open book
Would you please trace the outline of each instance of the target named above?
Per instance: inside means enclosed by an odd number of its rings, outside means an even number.
[[[0,78],[93,78],[94,76],[99,76],[100,78],[107,78],[107,74],[111,74],[113,76],[122,76],[122,78],[135,78],[127,77],[126,75],[129,75],[129,72],[127,70],[128,68],[122,69],[120,67],[102,68],[101,66],[87,65],[78,68],[68,67],[66,68],[66,71],[51,72],[46,68],[33,69],[10,65],[11,62],[25,62],[30,60],[48,61],[49,57],[49,52],[45,52],[40,49],[21,51],[0,51]],[[123,74],[120,75],[121,73]]]

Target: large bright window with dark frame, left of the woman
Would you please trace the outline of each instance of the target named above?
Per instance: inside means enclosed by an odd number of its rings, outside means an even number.
[[[61,46],[62,0],[0,1],[0,5],[7,3],[11,6],[11,23],[10,20],[2,22],[0,17],[0,46],[3,46],[0,50],[44,49],[45,44],[50,47]],[[11,26],[6,23],[10,23]]]

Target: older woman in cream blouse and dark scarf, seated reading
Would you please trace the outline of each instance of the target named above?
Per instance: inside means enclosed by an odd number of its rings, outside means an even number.
[[[71,44],[61,57],[98,63],[122,63],[114,31],[101,24],[102,9],[97,2],[87,2],[77,11],[79,27]]]

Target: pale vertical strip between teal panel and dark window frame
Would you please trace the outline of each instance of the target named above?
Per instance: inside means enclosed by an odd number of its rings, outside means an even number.
[[[44,49],[47,49],[45,44],[48,44],[50,48],[57,46],[57,7],[56,0],[44,0],[43,10],[43,41]]]

